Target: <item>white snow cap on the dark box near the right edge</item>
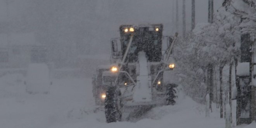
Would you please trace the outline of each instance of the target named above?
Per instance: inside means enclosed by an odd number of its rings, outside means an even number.
[[[249,62],[242,62],[237,65],[238,76],[249,76]],[[253,68],[253,73],[256,74],[256,66]]]

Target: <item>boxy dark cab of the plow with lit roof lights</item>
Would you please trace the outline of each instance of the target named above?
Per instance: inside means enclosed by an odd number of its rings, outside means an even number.
[[[131,35],[133,35],[126,62],[137,62],[138,52],[141,51],[145,52],[147,61],[161,61],[163,24],[147,26],[121,25],[119,31],[122,57],[128,47]]]

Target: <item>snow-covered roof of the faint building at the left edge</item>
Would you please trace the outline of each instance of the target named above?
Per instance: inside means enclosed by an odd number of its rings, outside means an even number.
[[[0,47],[6,47],[8,45],[7,42],[7,34],[0,34]],[[35,34],[32,33],[11,33],[10,34],[10,46],[14,45],[40,45],[36,43]]]

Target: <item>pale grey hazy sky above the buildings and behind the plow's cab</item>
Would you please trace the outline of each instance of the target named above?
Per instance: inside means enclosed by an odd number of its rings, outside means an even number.
[[[222,1],[214,0],[215,11]],[[195,3],[195,22],[207,22],[208,0]],[[80,55],[110,54],[109,40],[119,36],[121,24],[163,23],[163,34],[173,35],[175,13],[173,0],[1,0],[0,33],[35,33],[36,42],[49,47],[51,61],[69,63]],[[182,0],[179,16],[181,33]],[[191,0],[186,17],[189,32]]]

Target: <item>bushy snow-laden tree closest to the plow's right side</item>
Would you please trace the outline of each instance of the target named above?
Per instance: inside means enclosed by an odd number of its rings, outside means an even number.
[[[176,60],[182,72],[187,76],[183,81],[187,93],[203,102],[206,95],[206,71],[209,64],[218,64],[221,52],[216,51],[218,43],[218,26],[216,24],[197,24],[193,32],[178,43]],[[201,92],[201,93],[199,93]],[[205,93],[202,93],[205,92]]]

